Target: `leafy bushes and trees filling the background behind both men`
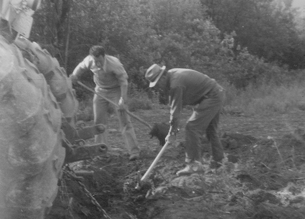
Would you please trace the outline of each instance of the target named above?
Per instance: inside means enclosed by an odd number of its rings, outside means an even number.
[[[30,38],[51,51],[68,74],[92,45],[105,46],[108,54],[124,64],[131,94],[145,93],[144,99],[155,92],[148,89],[145,70],[159,63],[167,69],[191,68],[215,78],[228,90],[229,109],[253,111],[252,105],[276,95],[275,105],[287,98],[285,104],[277,105],[280,110],[273,109],[283,112],[291,104],[301,107],[303,101],[305,22],[291,3],[44,0],[34,15]],[[90,73],[84,80],[94,86]],[[89,95],[76,89],[80,99]],[[166,103],[162,92],[160,96]],[[296,98],[293,103],[291,97]]]

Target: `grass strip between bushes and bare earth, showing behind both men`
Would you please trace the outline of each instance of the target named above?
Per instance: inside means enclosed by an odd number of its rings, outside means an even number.
[[[222,84],[226,88],[226,112],[241,112],[246,115],[271,115],[287,113],[291,110],[305,110],[305,88],[303,81],[288,85],[261,83],[250,84],[245,89],[236,89],[233,85]],[[159,104],[159,94],[152,91],[132,89],[129,91],[128,109],[151,110]],[[92,98],[80,102],[78,118],[89,121],[93,119]]]

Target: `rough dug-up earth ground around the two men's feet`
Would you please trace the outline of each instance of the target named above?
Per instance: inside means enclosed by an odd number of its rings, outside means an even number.
[[[77,180],[64,174],[48,218],[305,218],[304,111],[222,114],[219,134],[226,153],[222,167],[209,168],[210,148],[203,142],[206,171],[178,177],[175,173],[185,159],[179,142],[191,113],[184,109],[177,143],[167,148],[149,182],[138,189],[139,178],[161,149],[159,141],[132,119],[142,152],[140,160],[128,161],[116,131],[117,118],[112,117],[106,130],[110,156],[72,163],[71,170],[85,174]],[[150,125],[169,120],[168,106],[154,105],[134,114]]]

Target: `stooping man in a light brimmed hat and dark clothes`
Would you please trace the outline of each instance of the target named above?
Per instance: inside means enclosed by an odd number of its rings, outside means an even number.
[[[159,81],[158,85],[169,94],[170,130],[166,141],[175,140],[183,106],[193,106],[193,114],[185,127],[186,167],[177,175],[203,171],[200,138],[204,134],[212,146],[211,168],[220,167],[224,153],[217,135],[217,124],[222,109],[223,88],[198,71],[174,68],[165,73],[165,68],[153,64],[146,71],[145,78],[150,82],[149,87],[154,87]]]

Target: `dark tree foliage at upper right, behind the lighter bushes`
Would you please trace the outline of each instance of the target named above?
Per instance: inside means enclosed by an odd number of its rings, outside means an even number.
[[[201,0],[208,7],[222,33],[235,31],[235,54],[238,45],[267,62],[304,68],[304,40],[294,22],[292,0]]]

